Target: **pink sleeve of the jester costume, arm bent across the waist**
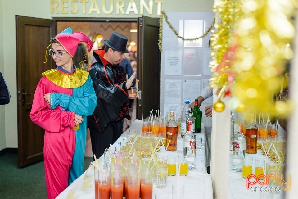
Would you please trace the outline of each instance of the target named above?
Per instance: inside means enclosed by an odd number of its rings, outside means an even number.
[[[30,118],[33,123],[49,132],[61,132],[65,127],[74,127],[74,113],[61,111],[61,106],[51,110],[50,105],[44,100],[44,91],[37,86],[33,98]]]

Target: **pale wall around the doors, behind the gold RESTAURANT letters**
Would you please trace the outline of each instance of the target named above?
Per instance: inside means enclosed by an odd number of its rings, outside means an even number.
[[[156,5],[156,0],[153,0],[153,5]],[[8,105],[0,106],[0,151],[4,148],[17,148],[17,84],[16,84],[16,15],[30,16],[36,18],[52,19],[52,17],[139,17],[130,12],[129,15],[116,13],[103,14],[101,5],[101,14],[93,12],[92,14],[51,14],[51,0],[0,0],[0,70],[3,71],[7,85],[11,93],[11,102]],[[61,2],[61,0],[57,0]],[[71,0],[68,0],[70,5]],[[80,1],[79,1],[80,2]],[[90,8],[91,0],[86,4],[87,10]],[[97,0],[96,2],[102,2]],[[110,2],[110,1],[107,1]],[[114,2],[116,2],[114,0]],[[130,0],[124,0],[128,4]],[[139,5],[140,0],[134,0]],[[145,0],[146,3],[149,0]],[[212,11],[213,0],[163,0],[161,5],[162,11]],[[80,4],[79,10],[82,10]],[[153,9],[154,10],[154,9]],[[156,8],[152,15],[144,15],[151,17],[159,17],[156,14]],[[5,51],[4,51],[5,49]],[[5,111],[5,112],[4,112]],[[4,116],[3,116],[4,115]],[[5,141],[4,141],[5,139]]]

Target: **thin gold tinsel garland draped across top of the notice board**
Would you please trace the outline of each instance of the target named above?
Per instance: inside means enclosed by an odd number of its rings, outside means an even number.
[[[162,20],[163,18],[165,18],[165,22],[167,22],[167,24],[169,25],[170,29],[173,30],[174,34],[182,39],[183,41],[194,41],[194,40],[197,40],[197,39],[200,39],[200,38],[204,38],[206,37],[206,35],[209,33],[209,31],[212,29],[212,27],[214,26],[214,23],[215,23],[215,19],[213,20],[212,24],[209,26],[209,28],[207,29],[207,31],[200,37],[196,37],[196,38],[184,38],[184,37],[181,37],[178,32],[174,29],[173,25],[169,22],[168,20],[168,16],[165,14],[165,11],[161,11],[161,14],[160,14],[160,18],[159,18],[159,38],[158,38],[158,47],[159,47],[159,50],[162,51]]]

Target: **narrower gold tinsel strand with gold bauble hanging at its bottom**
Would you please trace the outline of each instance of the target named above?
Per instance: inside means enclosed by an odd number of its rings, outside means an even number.
[[[214,12],[218,15],[218,21],[215,24],[216,31],[211,36],[210,47],[212,50],[210,87],[214,90],[221,89],[218,94],[218,102],[214,103],[214,110],[221,112],[224,110],[224,104],[220,101],[222,97],[230,94],[229,78],[233,79],[231,70],[231,58],[234,56],[235,47],[231,45],[230,35],[233,31],[235,14],[239,9],[237,2],[231,0],[214,1]]]

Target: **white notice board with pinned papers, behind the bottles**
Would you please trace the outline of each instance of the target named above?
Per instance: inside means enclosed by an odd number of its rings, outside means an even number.
[[[184,38],[200,37],[214,20],[214,12],[166,12],[166,15],[174,29]],[[210,31],[205,38],[183,41],[163,20],[160,89],[160,110],[163,113],[174,111],[175,115],[180,116],[183,99],[188,97],[193,102],[209,84],[211,34]],[[204,100],[200,110],[204,113],[205,106],[211,104],[212,97],[209,97]],[[202,122],[211,126],[211,118],[204,116]]]

